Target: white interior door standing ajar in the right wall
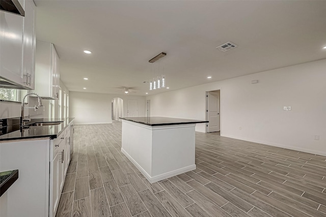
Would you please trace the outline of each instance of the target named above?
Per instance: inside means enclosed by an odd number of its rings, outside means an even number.
[[[207,133],[220,131],[219,92],[207,92]]]

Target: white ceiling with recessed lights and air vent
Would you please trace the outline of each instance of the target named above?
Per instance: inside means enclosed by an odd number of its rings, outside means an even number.
[[[145,96],[326,58],[326,1],[34,1],[70,91]],[[169,90],[148,90],[155,73]]]

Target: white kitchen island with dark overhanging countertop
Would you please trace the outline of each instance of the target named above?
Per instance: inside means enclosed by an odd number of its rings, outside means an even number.
[[[195,126],[205,120],[120,117],[121,151],[150,183],[196,169]]]

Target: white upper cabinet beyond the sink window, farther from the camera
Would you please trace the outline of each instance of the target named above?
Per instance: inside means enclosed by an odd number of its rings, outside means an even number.
[[[36,42],[35,92],[43,99],[59,98],[60,59],[56,48],[48,42]]]

